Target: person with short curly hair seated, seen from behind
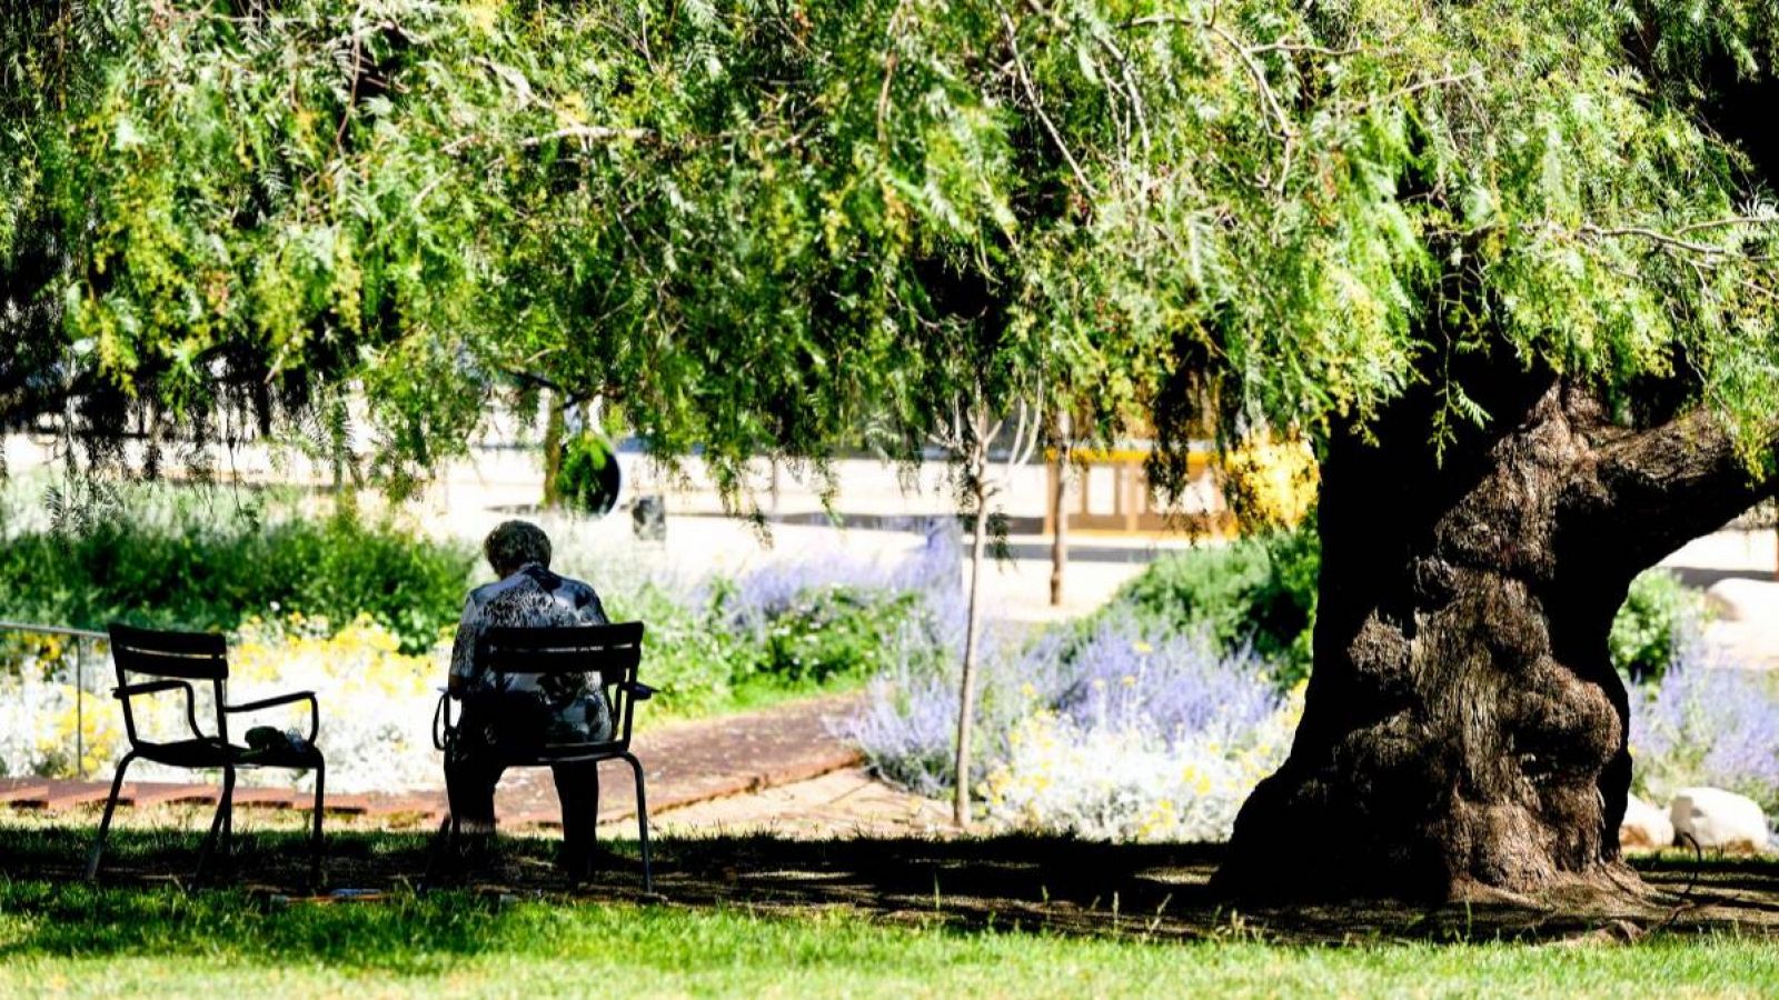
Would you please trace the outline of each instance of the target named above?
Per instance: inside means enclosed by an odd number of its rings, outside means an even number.
[[[514,674],[496,689],[475,662],[487,628],[608,625],[600,594],[580,580],[550,571],[550,537],[528,521],[505,521],[482,543],[500,577],[470,593],[450,657],[450,694],[463,699],[461,738],[445,754],[445,790],[468,843],[486,847],[495,831],[495,785],[505,760],[546,742],[596,742],[612,737],[612,706],[585,674],[539,678]],[[562,867],[585,877],[600,811],[600,772],[592,762],[551,765],[562,802]]]

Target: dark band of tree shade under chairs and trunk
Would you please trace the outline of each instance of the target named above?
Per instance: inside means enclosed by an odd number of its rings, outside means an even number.
[[[1053,836],[970,840],[776,836],[656,843],[656,895],[640,891],[635,843],[591,884],[560,877],[550,838],[502,838],[459,888],[416,895],[425,833],[329,835],[331,886],[381,902],[283,902],[304,875],[301,833],[260,831],[208,886],[183,884],[196,836],[119,829],[96,886],[80,879],[93,827],[0,824],[0,961],[18,954],[265,954],[281,961],[427,963],[548,947],[551,918],[672,920],[697,913],[865,916],[957,932],[1277,943],[1635,940],[1647,931],[1779,931],[1779,865],[1662,858],[1649,891],[1571,904],[1345,902],[1233,909],[1208,890],[1220,845],[1110,845]],[[528,906],[539,900],[548,906]],[[514,906],[519,904],[519,906]],[[589,906],[619,904],[619,906]],[[640,906],[628,906],[640,904]],[[388,957],[398,952],[402,957]]]

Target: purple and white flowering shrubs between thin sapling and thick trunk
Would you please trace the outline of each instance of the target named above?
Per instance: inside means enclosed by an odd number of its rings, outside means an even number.
[[[841,728],[879,774],[920,794],[941,795],[955,781],[957,662],[893,665]],[[1053,628],[1030,642],[991,630],[970,781],[1002,827],[1222,838],[1283,762],[1300,705],[1300,690],[1279,694],[1251,651],[1220,653],[1210,637],[1137,616],[1099,616],[1085,632]]]

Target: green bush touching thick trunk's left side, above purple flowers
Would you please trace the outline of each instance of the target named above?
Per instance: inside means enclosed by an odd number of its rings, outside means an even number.
[[[1151,562],[1099,616],[1135,612],[1162,632],[1251,646],[1290,687],[1309,673],[1322,546],[1315,521]]]

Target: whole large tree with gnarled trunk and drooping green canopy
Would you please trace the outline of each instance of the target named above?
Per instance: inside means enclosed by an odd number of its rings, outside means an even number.
[[[1316,662],[1222,884],[1619,875],[1612,612],[1774,477],[1770,0],[7,12],[9,420],[356,386],[402,482],[550,386],[735,491],[1032,374],[1163,488],[1300,434]]]

